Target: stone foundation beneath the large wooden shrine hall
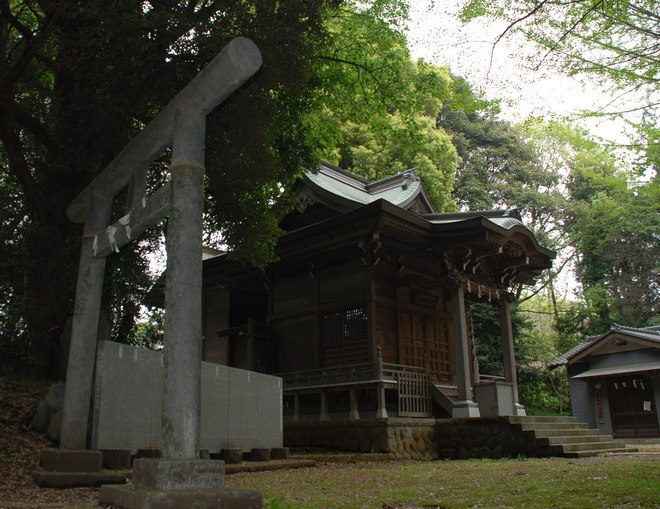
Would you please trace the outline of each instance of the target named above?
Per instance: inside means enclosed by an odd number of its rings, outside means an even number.
[[[546,455],[506,417],[287,423],[284,443],[417,460]]]

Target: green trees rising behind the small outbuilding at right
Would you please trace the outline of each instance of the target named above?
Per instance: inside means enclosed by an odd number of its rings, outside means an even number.
[[[593,325],[643,326],[660,313],[658,177],[630,186],[630,174],[588,162],[571,174],[568,232]]]

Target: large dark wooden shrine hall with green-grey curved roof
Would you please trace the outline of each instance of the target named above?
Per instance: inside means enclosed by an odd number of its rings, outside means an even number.
[[[298,182],[265,271],[204,262],[204,358],[284,381],[285,422],[524,415],[512,287],[554,253],[515,211],[438,214],[408,171]],[[471,302],[500,309],[505,376],[479,373]]]

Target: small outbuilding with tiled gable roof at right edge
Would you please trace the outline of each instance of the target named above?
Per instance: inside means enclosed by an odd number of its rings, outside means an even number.
[[[550,367],[562,365],[578,420],[615,438],[660,437],[660,326],[614,325]]]

